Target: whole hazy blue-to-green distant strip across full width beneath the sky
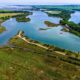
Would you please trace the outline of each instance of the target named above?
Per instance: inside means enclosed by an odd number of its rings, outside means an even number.
[[[25,10],[25,9],[65,9],[65,10],[73,10],[73,9],[80,9],[79,4],[66,4],[66,5],[19,5],[19,4],[13,4],[13,5],[0,5],[0,9],[4,10]]]

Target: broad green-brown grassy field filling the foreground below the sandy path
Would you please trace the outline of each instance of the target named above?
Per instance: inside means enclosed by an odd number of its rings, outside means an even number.
[[[0,47],[0,80],[80,80],[80,66],[15,37]],[[12,47],[13,46],[13,47]]]

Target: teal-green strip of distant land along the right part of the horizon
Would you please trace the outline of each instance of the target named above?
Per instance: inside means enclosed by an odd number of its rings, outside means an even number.
[[[80,10],[80,5],[37,5],[35,7],[47,10]]]

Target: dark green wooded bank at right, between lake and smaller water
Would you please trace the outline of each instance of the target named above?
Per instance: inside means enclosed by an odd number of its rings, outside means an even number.
[[[61,10],[61,12],[59,14],[52,14],[51,12],[47,12],[47,14],[49,16],[56,16],[56,17],[61,17],[62,20],[60,20],[60,24],[61,25],[64,25],[64,26],[68,26],[66,28],[63,28],[62,30],[63,31],[66,31],[68,30],[69,32],[77,35],[77,36],[80,36],[80,25],[79,24],[76,24],[74,22],[71,22],[71,21],[68,21],[69,18],[71,17],[71,13],[73,13],[72,11],[69,11],[69,10]]]

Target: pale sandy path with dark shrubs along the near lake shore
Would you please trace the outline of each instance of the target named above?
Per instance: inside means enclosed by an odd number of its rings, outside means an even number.
[[[32,44],[32,45],[41,47],[41,48],[46,49],[46,50],[54,51],[54,52],[62,54],[62,55],[80,54],[80,52],[72,52],[72,51],[69,51],[69,50],[66,50],[66,49],[61,49],[61,48],[58,48],[58,47],[55,47],[55,46],[50,46],[50,45],[47,45],[47,44],[40,44],[40,42],[34,42],[34,40],[32,40],[33,41],[32,42],[32,41],[30,41],[28,38],[26,38],[24,36],[24,32],[22,32],[22,31],[18,32],[17,37],[20,38],[20,39],[22,39],[22,40],[24,40],[28,44]]]

